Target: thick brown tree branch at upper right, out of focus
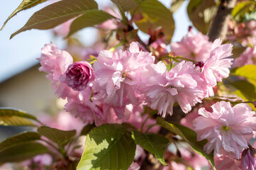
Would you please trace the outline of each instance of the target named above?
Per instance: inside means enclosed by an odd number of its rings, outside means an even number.
[[[210,41],[213,41],[216,38],[221,38],[221,40],[226,39],[228,21],[230,20],[230,13],[235,7],[235,2],[236,0],[221,0],[216,16],[211,23],[211,28],[208,31]]]

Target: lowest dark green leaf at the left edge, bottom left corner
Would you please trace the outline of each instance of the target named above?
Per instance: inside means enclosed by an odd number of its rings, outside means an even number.
[[[0,151],[0,162],[21,162],[38,154],[50,152],[47,147],[37,142],[22,142]]]

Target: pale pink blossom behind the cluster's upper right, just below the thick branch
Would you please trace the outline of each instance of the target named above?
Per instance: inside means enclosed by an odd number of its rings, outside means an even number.
[[[171,42],[171,49],[175,55],[181,55],[184,58],[196,62],[205,62],[211,52],[212,42],[202,33],[194,35],[191,31],[182,38],[181,42]]]

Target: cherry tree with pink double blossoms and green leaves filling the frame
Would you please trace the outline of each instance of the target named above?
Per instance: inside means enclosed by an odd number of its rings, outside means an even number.
[[[4,26],[45,1],[23,0]],[[3,169],[256,169],[256,1],[190,0],[179,42],[184,0],[112,2],[53,1],[11,35],[53,28],[67,43],[45,42],[37,58],[65,111],[0,108],[0,125],[35,129],[0,143]],[[87,27],[99,31],[93,47],[71,36]]]

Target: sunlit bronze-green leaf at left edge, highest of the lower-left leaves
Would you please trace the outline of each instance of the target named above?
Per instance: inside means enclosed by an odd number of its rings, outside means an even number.
[[[35,116],[16,108],[0,108],[0,125],[4,126],[35,126],[29,119],[37,120]]]

